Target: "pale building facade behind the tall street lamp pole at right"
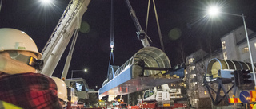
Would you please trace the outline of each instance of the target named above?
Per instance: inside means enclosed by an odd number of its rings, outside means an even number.
[[[247,29],[247,33],[250,37],[251,53],[256,54],[256,34],[250,29]],[[224,60],[250,62],[249,48],[246,41],[244,26],[240,26],[238,29],[227,33],[224,37],[221,38],[221,41]],[[256,61],[255,58],[254,61]]]

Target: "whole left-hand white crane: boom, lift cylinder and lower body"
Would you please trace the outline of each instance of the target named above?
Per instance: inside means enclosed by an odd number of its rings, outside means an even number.
[[[70,0],[66,10],[64,10],[62,14],[62,17],[59,19],[54,32],[51,34],[45,47],[42,49],[42,60],[44,62],[44,67],[41,71],[38,71],[39,73],[46,76],[52,76],[58,61],[66,49],[66,46],[69,44],[71,37],[74,36],[71,44],[72,47],[70,47],[70,53],[66,58],[66,64],[62,72],[62,79],[66,79],[66,74],[70,67],[74,44],[76,38],[78,37],[78,29],[80,28],[82,16],[86,12],[89,3],[90,0]],[[70,103],[72,102],[74,105],[76,105],[78,103],[77,99],[88,99],[88,96],[86,96],[86,90],[82,90],[85,93],[82,93],[84,95],[79,96],[75,94],[75,90],[76,88],[67,86]]]

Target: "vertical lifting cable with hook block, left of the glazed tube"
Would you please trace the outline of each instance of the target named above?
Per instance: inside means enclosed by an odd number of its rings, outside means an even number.
[[[113,65],[114,65],[114,0],[111,0],[111,20],[110,20],[110,61],[109,61],[109,67],[108,67],[108,72],[111,64],[111,58],[113,60]]]

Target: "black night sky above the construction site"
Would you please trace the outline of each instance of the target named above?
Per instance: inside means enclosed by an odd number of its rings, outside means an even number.
[[[55,0],[54,5],[42,6],[37,0],[2,0],[0,28],[25,31],[34,39],[41,52],[69,2]],[[130,0],[130,3],[142,29],[145,29],[148,1]],[[243,25],[242,18],[227,14],[218,18],[203,17],[206,15],[206,7],[210,4],[222,6],[221,10],[226,13],[243,13],[247,27],[256,31],[255,0],[156,0],[155,3],[165,52],[172,66],[183,62],[179,50],[181,47],[184,48],[184,56],[201,48],[208,53],[214,52],[221,47],[220,37]],[[70,78],[71,70],[88,68],[89,72],[86,74],[74,72],[73,77],[85,78],[90,88],[95,85],[101,87],[106,80],[110,59],[110,4],[111,0],[91,0],[82,18],[82,21],[90,25],[90,31],[78,34],[67,75],[67,78]],[[124,0],[115,0],[114,63],[119,66],[143,47],[137,38],[137,30],[129,13]],[[171,30],[177,30],[178,33],[170,33]],[[152,2],[147,31],[153,41],[150,45],[161,49]],[[70,45],[62,55],[53,76],[62,75],[69,49]]]

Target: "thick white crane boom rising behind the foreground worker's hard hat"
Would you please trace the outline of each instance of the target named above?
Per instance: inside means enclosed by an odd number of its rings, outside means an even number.
[[[39,71],[40,73],[52,76],[74,30],[80,28],[82,15],[86,12],[89,3],[90,0],[70,1],[50,39],[42,49],[42,60],[44,60],[45,66],[42,71]]]

